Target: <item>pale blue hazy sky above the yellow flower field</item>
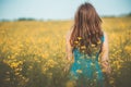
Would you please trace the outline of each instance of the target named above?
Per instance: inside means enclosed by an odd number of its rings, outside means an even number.
[[[0,0],[0,21],[72,20],[81,3],[91,2],[100,16],[131,14],[131,0]]]

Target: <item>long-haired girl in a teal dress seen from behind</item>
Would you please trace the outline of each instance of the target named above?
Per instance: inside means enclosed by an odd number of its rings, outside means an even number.
[[[76,87],[104,87],[104,73],[110,73],[107,34],[100,25],[102,18],[91,3],[79,7],[74,25],[67,34],[70,79]]]

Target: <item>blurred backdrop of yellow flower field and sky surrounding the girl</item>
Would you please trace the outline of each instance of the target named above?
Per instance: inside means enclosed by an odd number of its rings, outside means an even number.
[[[130,87],[131,0],[0,0],[0,87],[75,87],[63,71],[71,65],[66,35],[86,1],[108,36],[111,74],[105,87]]]

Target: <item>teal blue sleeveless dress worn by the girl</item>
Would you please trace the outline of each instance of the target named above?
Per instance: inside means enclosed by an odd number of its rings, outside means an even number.
[[[104,36],[100,38],[104,42]],[[74,62],[70,67],[70,79],[76,80],[76,87],[104,87],[104,75],[98,63],[99,50],[92,57],[73,50]]]

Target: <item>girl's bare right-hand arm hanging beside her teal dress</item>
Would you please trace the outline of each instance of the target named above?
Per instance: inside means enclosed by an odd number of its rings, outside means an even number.
[[[100,63],[102,63],[102,66],[104,69],[103,71],[107,74],[110,73],[108,52],[109,52],[108,37],[107,37],[107,34],[104,33],[104,42],[103,42],[103,47],[102,47]]]

